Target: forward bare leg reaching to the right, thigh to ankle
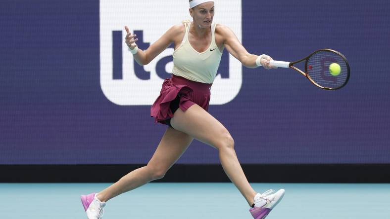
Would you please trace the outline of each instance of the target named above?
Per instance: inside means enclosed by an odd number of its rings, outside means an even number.
[[[234,150],[233,138],[217,119],[195,104],[185,112],[178,109],[171,119],[171,125],[176,130],[217,148],[226,175],[243,194],[249,206],[252,205],[256,192],[248,183],[241,168]]]

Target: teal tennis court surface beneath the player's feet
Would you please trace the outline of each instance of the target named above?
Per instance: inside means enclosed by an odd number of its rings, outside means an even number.
[[[86,219],[79,195],[109,183],[0,183],[1,219]],[[252,183],[285,188],[267,219],[389,219],[390,184]],[[107,202],[103,219],[250,219],[232,183],[149,183]]]

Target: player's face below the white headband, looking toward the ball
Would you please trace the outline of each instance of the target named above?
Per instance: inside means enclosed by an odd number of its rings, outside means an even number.
[[[214,2],[204,2],[190,9],[191,16],[194,19],[196,26],[200,28],[208,28],[211,26],[214,17]]]

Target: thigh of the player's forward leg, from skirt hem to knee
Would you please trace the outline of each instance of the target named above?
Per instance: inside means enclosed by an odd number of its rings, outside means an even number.
[[[225,126],[196,104],[186,111],[180,108],[176,110],[171,125],[174,129],[218,149],[220,146],[234,145],[233,138]]]

